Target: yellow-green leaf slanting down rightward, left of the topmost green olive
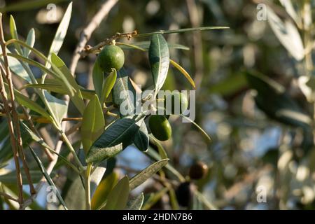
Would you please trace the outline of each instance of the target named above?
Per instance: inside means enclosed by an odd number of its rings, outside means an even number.
[[[70,70],[68,69],[66,64],[64,64],[62,59],[60,57],[58,57],[57,55],[55,55],[55,53],[53,53],[53,52],[51,55],[51,62],[53,64],[55,64],[55,66],[57,66],[58,69],[60,69],[60,71],[64,74],[66,79],[69,81],[70,85],[73,87],[74,91],[73,91],[73,95],[70,96],[70,99],[73,102],[73,104],[76,106],[76,109],[78,109],[78,111],[81,114],[83,114],[83,111],[85,109],[83,97],[82,97],[82,94],[80,92],[80,87],[78,86],[78,83],[76,83],[76,80],[72,76]]]

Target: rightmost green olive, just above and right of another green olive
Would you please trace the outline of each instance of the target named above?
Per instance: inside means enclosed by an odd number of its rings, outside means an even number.
[[[188,109],[188,99],[186,94],[181,92],[172,92],[165,97],[165,109],[167,114],[179,115]],[[169,106],[172,106],[169,108]]]

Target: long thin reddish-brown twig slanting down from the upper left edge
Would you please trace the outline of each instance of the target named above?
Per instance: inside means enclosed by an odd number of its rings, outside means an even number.
[[[27,176],[27,181],[29,182],[29,191],[31,195],[35,194],[35,188],[33,182],[31,181],[31,175],[29,174],[29,166],[27,165],[27,161],[25,158],[25,153],[23,151],[23,142],[21,137],[21,130],[20,130],[20,121],[18,118],[18,112],[15,107],[15,95],[13,90],[13,83],[12,83],[12,74],[10,73],[10,69],[8,66],[8,56],[6,54],[6,42],[4,41],[3,35],[3,26],[2,26],[2,14],[0,15],[0,42],[1,42],[1,49],[3,54],[3,61],[4,61],[4,69],[6,71],[6,78],[8,80],[8,89],[11,99],[11,107],[12,107],[12,117],[13,117],[13,124],[16,130],[16,138],[18,141],[18,150],[20,150],[20,158],[22,160],[23,168],[25,169],[25,174]],[[2,68],[1,68],[2,69]],[[3,73],[3,71],[1,71]]]

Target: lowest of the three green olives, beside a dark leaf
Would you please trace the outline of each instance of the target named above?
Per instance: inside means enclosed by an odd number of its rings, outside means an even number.
[[[165,116],[153,115],[149,119],[149,127],[155,138],[167,141],[172,136],[172,127]]]

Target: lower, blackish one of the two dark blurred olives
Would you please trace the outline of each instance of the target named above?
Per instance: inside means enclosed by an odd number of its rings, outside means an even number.
[[[195,186],[189,181],[181,183],[176,189],[176,199],[182,207],[189,207],[193,202],[193,190]]]

